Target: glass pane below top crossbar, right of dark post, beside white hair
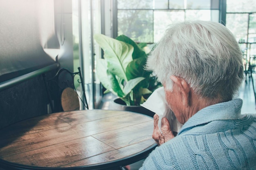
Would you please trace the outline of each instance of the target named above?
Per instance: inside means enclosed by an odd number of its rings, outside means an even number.
[[[247,41],[247,13],[227,13],[226,26],[235,35],[237,42]]]

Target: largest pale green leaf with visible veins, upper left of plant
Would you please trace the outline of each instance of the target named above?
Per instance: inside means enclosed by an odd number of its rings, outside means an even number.
[[[95,34],[94,39],[104,51],[104,59],[108,62],[108,70],[128,81],[126,67],[132,61],[133,46],[103,34]]]

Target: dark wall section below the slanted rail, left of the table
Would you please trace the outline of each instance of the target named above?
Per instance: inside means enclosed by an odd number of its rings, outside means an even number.
[[[47,77],[56,71],[46,73]],[[43,75],[0,91],[0,128],[17,121],[47,114],[49,100]]]

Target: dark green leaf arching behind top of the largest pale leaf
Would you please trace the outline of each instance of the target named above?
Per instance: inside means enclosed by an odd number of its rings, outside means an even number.
[[[142,56],[146,56],[146,53],[138,46],[136,42],[134,42],[132,39],[128,38],[125,35],[120,35],[116,38],[119,41],[126,42],[127,44],[130,44],[133,46],[134,50],[132,53],[132,59],[137,59]]]

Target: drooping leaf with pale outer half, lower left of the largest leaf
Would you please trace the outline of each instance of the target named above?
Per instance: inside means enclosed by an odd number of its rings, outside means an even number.
[[[108,90],[111,91],[114,95],[119,97],[124,97],[124,92],[119,85],[115,75],[109,73],[107,69],[107,63],[104,59],[97,59],[96,64],[96,74],[101,81],[101,84]]]

